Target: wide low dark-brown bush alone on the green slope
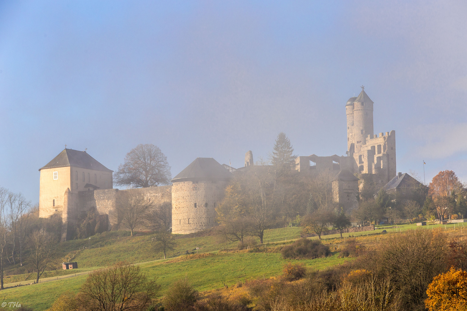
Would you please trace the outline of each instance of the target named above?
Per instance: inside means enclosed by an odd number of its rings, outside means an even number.
[[[329,247],[318,240],[300,239],[282,249],[282,256],[286,259],[315,259],[327,257],[331,254]]]

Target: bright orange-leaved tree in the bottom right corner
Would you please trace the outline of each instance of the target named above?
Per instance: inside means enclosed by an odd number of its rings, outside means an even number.
[[[429,311],[467,310],[467,271],[451,268],[435,276],[426,294],[425,307]]]

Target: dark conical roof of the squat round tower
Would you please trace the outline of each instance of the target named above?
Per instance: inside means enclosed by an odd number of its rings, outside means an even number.
[[[228,181],[233,177],[224,166],[212,158],[196,158],[185,169],[178,173],[171,181]]]

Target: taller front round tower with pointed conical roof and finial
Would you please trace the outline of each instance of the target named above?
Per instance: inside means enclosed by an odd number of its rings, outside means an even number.
[[[361,90],[354,103],[354,126],[353,135],[356,149],[366,143],[368,135],[373,136],[373,101],[368,97],[365,90]],[[347,119],[348,123],[348,119]]]

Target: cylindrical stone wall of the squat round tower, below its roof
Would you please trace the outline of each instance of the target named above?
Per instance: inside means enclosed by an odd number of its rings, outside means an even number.
[[[215,207],[226,181],[181,181],[172,185],[172,233],[188,234],[215,225]]]

